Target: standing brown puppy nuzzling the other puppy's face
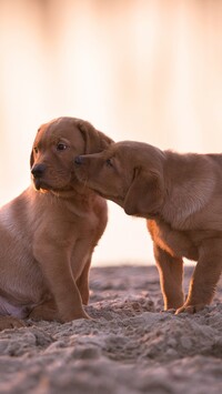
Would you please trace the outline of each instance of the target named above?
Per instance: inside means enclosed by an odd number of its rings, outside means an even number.
[[[75,158],[77,178],[148,219],[164,310],[194,313],[211,303],[222,271],[222,154],[179,154],[124,141]],[[183,260],[196,261],[189,295]]]

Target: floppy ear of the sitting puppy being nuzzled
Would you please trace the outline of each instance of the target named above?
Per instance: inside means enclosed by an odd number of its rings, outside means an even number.
[[[107,149],[112,142],[114,142],[110,137],[105,135],[101,131],[98,131],[89,122],[78,120],[77,123],[79,130],[85,142],[84,154],[99,153]]]

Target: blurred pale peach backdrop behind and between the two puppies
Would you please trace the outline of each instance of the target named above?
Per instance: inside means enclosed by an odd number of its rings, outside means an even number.
[[[82,118],[114,140],[221,152],[221,0],[0,0],[0,204],[30,182],[37,129]],[[109,203],[93,264],[153,263]]]

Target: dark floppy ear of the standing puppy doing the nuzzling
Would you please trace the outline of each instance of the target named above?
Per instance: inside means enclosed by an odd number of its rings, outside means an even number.
[[[149,218],[163,202],[163,176],[158,170],[135,169],[123,209],[129,215]]]

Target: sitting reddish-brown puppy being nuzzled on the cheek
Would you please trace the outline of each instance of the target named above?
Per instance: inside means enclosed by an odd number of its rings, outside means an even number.
[[[22,325],[17,317],[89,317],[82,303],[89,300],[88,273],[107,225],[107,202],[77,180],[73,156],[111,142],[74,118],[39,129],[31,153],[34,188],[0,210],[0,330]]]

